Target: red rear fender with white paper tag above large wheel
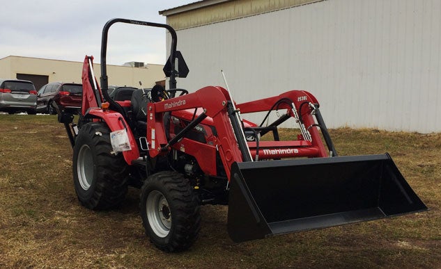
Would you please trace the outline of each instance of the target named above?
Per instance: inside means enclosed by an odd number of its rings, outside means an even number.
[[[123,156],[128,165],[132,165],[132,161],[139,158],[139,149],[136,140],[134,139],[132,130],[129,127],[129,124],[124,120],[123,115],[115,111],[102,111],[99,108],[91,108],[89,109],[87,115],[91,115],[93,117],[98,117],[102,121],[106,122],[110,131],[118,131],[125,129],[127,131],[127,136],[129,138],[130,147],[132,149],[123,152]]]

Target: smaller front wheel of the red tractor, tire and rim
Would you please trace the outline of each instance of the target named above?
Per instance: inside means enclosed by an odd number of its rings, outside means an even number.
[[[150,241],[164,252],[187,250],[201,229],[194,189],[183,174],[163,171],[141,188],[141,218]]]

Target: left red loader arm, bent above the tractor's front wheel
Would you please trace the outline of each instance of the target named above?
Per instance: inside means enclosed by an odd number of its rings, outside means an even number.
[[[203,113],[189,124],[188,129],[199,124],[206,117],[212,119],[218,134],[216,144],[212,147],[213,150],[219,151],[219,156],[229,178],[231,165],[235,162],[242,162],[242,151],[247,150],[238,147],[236,142],[238,138],[235,136],[231,123],[235,121],[235,117],[228,111],[229,104],[231,104],[231,100],[226,90],[222,87],[214,86],[201,88],[188,95],[149,103],[147,108],[147,141],[151,147],[150,157],[167,154],[173,144],[182,138],[180,134],[177,134],[175,138],[167,140],[163,121],[164,113],[182,111],[189,108],[203,108]],[[239,123],[237,124],[240,126]],[[185,131],[187,130],[183,130],[181,133],[183,134]],[[203,162],[201,163],[203,164]],[[201,163],[199,164],[201,165]],[[212,163],[207,163],[207,165],[212,166]],[[203,170],[210,170],[209,168],[204,168],[203,165],[201,168]]]

